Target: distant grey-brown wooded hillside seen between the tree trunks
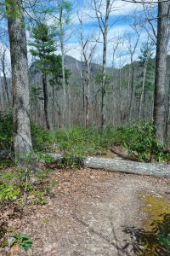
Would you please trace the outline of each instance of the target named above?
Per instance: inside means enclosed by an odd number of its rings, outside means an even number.
[[[153,112],[154,99],[154,76],[155,76],[155,59],[150,61],[151,67],[147,71],[144,85],[144,102],[143,113],[144,118],[150,118]],[[78,66],[78,68],[77,68]],[[69,125],[84,124],[84,109],[86,103],[86,84],[81,78],[80,71],[85,73],[85,62],[77,61],[70,55],[65,56],[65,67],[71,70],[71,78],[66,86],[67,94],[67,112]],[[101,72],[101,66],[91,63],[92,76],[90,79],[90,124],[100,124],[101,114],[101,77],[97,74]],[[121,125],[127,122],[129,114],[129,101],[133,90],[132,100],[132,118],[139,118],[139,102],[141,98],[143,68],[139,61],[133,62],[133,76],[129,75],[130,65],[127,64],[122,69],[107,68],[109,74],[105,87],[106,109],[107,109],[107,125]],[[40,125],[44,125],[43,112],[43,92],[42,92],[42,74],[37,72],[36,62],[31,64],[30,73],[30,91],[31,91],[31,118],[36,120]],[[170,81],[170,56],[167,56],[167,79],[166,79],[166,102],[168,96],[168,87]],[[10,84],[10,83],[8,83]],[[0,79],[0,97],[5,99],[3,89],[3,78]],[[9,85],[10,88],[10,85]],[[2,102],[5,102],[3,100]],[[12,102],[12,101],[11,101]],[[167,104],[167,103],[166,103]],[[3,106],[3,107],[2,107]],[[0,104],[0,108],[7,109],[7,104]],[[48,83],[48,113],[51,126],[59,128],[62,125],[62,108],[63,108],[63,88],[60,81],[54,87]],[[54,116],[54,118],[52,118]],[[53,125],[52,125],[53,124]]]

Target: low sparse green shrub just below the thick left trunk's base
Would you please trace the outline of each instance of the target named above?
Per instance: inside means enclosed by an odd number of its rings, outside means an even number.
[[[0,172],[0,207],[15,204],[44,204],[45,196],[48,195],[54,185],[58,182],[51,182],[49,177],[52,170],[31,172],[17,168],[14,171]],[[32,183],[32,179],[34,182]]]

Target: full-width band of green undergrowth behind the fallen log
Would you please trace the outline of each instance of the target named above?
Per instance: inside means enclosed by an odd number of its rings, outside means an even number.
[[[58,152],[67,158],[83,159],[88,155],[106,154],[111,147],[122,147],[127,154],[144,162],[169,161],[168,144],[165,148],[154,136],[152,120],[142,120],[118,128],[108,127],[105,131],[99,128],[71,127],[47,131],[43,127],[31,124],[33,152],[39,158],[50,161],[48,152]],[[168,141],[168,138],[167,138]],[[0,150],[7,156],[1,166],[10,164],[14,159],[12,114],[0,115]],[[41,154],[40,154],[41,152]],[[49,158],[49,159],[48,159]]]

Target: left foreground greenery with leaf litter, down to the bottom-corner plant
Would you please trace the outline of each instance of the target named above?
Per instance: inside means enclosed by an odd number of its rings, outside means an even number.
[[[45,166],[45,165],[44,165]],[[44,205],[48,196],[53,196],[52,189],[58,181],[51,181],[51,169],[43,167],[38,172],[31,169],[14,167],[0,172],[0,247],[17,245],[28,250],[32,246],[31,239],[26,234],[10,235],[8,224],[11,219],[22,218],[26,207]],[[11,244],[8,237],[13,237]]]

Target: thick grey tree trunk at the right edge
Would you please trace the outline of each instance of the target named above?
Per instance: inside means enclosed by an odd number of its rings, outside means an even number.
[[[154,96],[154,125],[156,126],[156,138],[164,143],[165,123],[165,77],[167,61],[167,44],[169,36],[169,3],[158,3],[157,41],[156,41],[156,77]]]

